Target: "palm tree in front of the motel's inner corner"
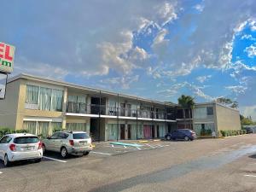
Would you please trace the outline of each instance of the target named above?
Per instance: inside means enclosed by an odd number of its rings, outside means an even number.
[[[183,121],[185,124],[185,128],[187,128],[187,125],[185,122],[185,119],[186,119],[185,109],[189,109],[189,119],[192,119],[192,114],[190,113],[190,109],[194,108],[195,106],[194,98],[192,96],[182,95],[177,99],[177,102],[183,108]]]

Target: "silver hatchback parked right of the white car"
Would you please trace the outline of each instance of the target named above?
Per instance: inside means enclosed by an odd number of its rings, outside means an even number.
[[[63,158],[68,154],[87,155],[91,150],[91,138],[84,131],[58,131],[43,140],[43,151],[60,152]]]

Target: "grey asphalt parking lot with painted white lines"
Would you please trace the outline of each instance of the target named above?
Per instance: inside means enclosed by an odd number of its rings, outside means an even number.
[[[189,192],[256,189],[255,135],[193,142],[121,142],[124,144],[94,143],[92,153],[82,157],[62,159],[60,154],[47,152],[40,163],[18,162],[8,168],[0,164],[0,189]],[[204,182],[197,185],[198,179]],[[186,185],[190,187],[184,188]]]

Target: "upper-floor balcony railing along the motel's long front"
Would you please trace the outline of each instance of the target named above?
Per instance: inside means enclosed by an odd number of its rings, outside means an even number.
[[[145,119],[175,119],[173,113],[155,112],[150,110],[106,107],[105,105],[96,105],[82,102],[68,102],[67,113],[88,113],[110,116],[122,116]]]

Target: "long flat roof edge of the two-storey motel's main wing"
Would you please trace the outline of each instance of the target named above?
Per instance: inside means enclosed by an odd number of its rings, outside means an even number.
[[[96,89],[96,88],[83,86],[83,85],[79,85],[79,84],[67,83],[67,82],[64,82],[61,80],[38,77],[38,76],[31,75],[31,74],[26,74],[26,73],[20,73],[14,77],[9,78],[8,84],[15,80],[18,80],[18,79],[29,79],[29,80],[48,83],[48,84],[57,84],[57,85],[75,88],[75,89],[79,89],[79,90],[89,90],[92,92],[96,92],[97,94],[99,94],[99,92],[101,92],[102,94],[107,94],[107,95],[111,95],[111,96],[120,96],[120,97],[124,97],[127,99],[139,100],[139,101],[143,101],[143,102],[153,102],[154,104],[166,105],[166,106],[170,106],[170,107],[178,106],[176,103],[172,103],[172,102],[160,102],[160,101],[144,98],[141,96],[131,96],[131,95],[117,93],[117,92],[113,92],[113,91],[109,91],[109,90],[101,90],[101,89]]]

